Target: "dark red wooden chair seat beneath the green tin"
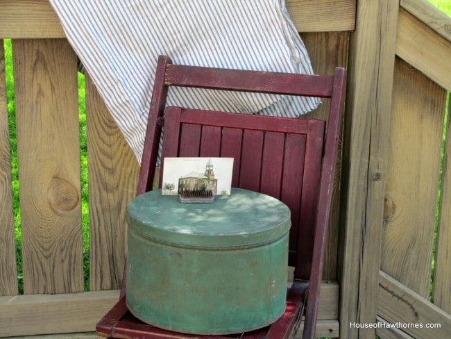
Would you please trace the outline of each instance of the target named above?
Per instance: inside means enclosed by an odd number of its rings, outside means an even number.
[[[257,329],[246,333],[230,334],[226,336],[198,336],[185,333],[177,333],[159,329],[150,324],[138,320],[126,306],[126,297],[122,297],[117,304],[97,324],[97,335],[106,338],[139,338],[139,339],[260,339],[293,338],[300,324],[300,315],[305,307],[305,292],[308,283],[306,281],[294,281],[287,290],[287,308],[276,322],[263,329]]]

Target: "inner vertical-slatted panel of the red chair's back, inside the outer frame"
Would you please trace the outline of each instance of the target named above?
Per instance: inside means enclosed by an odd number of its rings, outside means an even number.
[[[309,279],[325,122],[169,107],[162,159],[234,158],[232,187],[271,195],[291,210],[289,265]],[[162,183],[160,171],[160,184]]]

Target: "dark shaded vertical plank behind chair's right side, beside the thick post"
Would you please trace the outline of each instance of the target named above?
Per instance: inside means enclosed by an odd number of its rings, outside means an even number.
[[[347,67],[349,32],[300,33],[316,74],[334,74],[335,67]],[[312,113],[301,118],[316,117],[327,119],[330,99],[323,99],[323,103]],[[341,158],[338,159],[341,161]],[[340,169],[337,165],[335,187],[332,192],[332,208],[329,229],[325,240],[323,279],[337,279],[337,253],[340,229]]]

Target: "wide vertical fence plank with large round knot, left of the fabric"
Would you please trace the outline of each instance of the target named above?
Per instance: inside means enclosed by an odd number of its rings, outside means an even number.
[[[24,293],[83,290],[76,56],[13,40]]]

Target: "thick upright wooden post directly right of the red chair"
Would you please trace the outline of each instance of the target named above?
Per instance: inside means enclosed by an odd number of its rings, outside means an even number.
[[[375,329],[351,329],[350,322],[376,318],[377,283],[391,88],[395,58],[397,1],[357,1],[350,40],[345,114],[341,232],[340,335],[375,338]]]

